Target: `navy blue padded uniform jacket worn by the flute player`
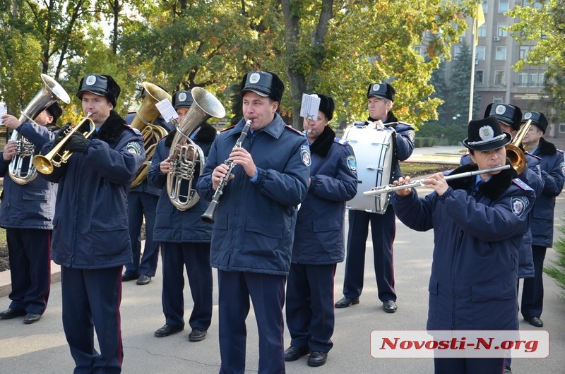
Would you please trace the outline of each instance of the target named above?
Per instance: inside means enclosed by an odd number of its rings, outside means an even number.
[[[452,174],[476,170],[464,165]],[[518,330],[518,248],[534,191],[507,169],[471,195],[475,176],[451,179],[444,195],[391,196],[411,229],[434,229],[428,330]]]

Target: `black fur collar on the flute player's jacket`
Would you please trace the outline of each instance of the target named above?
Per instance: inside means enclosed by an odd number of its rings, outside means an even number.
[[[506,159],[506,164],[510,164],[510,161]],[[466,164],[457,169],[453,170],[449,175],[455,175],[460,173],[465,173],[467,171],[475,171],[479,169],[477,164]],[[518,177],[516,170],[513,168],[502,170],[499,174],[492,176],[487,183],[482,183],[479,186],[479,191],[483,195],[487,196],[491,200],[496,200],[501,193],[506,191],[512,183],[512,179]],[[458,179],[451,179],[447,181],[448,185],[454,190],[467,190],[470,191],[475,188],[475,178],[476,176],[464,176]]]

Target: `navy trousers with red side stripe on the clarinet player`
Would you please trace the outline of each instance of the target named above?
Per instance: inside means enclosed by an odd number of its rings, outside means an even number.
[[[249,298],[259,334],[258,373],[285,373],[283,342],[284,275],[218,270],[220,374],[244,373]]]

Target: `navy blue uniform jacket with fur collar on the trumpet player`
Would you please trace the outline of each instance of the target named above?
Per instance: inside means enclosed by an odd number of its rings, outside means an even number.
[[[86,152],[42,174],[59,183],[52,259],[66,267],[103,269],[131,263],[127,194],[145,159],[143,138],[112,111]],[[47,154],[54,141],[46,143]]]

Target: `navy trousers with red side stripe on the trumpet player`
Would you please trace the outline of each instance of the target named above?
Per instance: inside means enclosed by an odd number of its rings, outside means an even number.
[[[121,372],[121,268],[61,266],[63,328],[76,364],[74,373]],[[94,329],[100,354],[94,347]]]

